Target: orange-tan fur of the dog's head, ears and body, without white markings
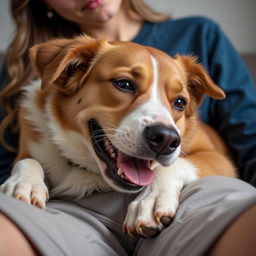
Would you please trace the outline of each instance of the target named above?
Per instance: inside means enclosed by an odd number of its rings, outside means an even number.
[[[129,42],[107,43],[87,36],[36,45],[30,54],[42,79],[42,89],[55,90],[52,108],[61,127],[77,131],[87,140],[91,118],[96,118],[103,129],[109,127],[109,123],[118,126],[123,117],[150,98],[153,81],[150,55],[159,64],[161,100],[181,131],[183,157],[188,157],[201,170],[200,176],[236,177],[232,162],[225,156],[228,152],[225,144],[216,132],[197,118],[196,108],[204,93],[218,99],[225,95],[195,58],[177,55],[172,59],[154,48]],[[119,91],[113,86],[112,79],[130,80],[136,88],[135,94]],[[44,92],[38,92],[41,109],[48,97]],[[187,103],[183,112],[173,107],[180,97]],[[20,111],[20,148],[16,160],[28,157],[26,142],[36,141],[40,136],[32,132],[31,125],[22,118],[24,111]]]

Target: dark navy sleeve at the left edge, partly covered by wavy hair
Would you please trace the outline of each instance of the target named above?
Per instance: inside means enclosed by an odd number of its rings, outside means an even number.
[[[1,72],[0,72],[0,88],[2,89],[8,80],[8,73],[6,69],[6,62],[4,63]],[[0,112],[0,122],[3,120],[3,106],[1,106]],[[16,146],[18,142],[17,135],[13,135],[10,129],[7,129],[5,132],[5,139],[12,146]],[[11,173],[11,165],[13,164],[13,160],[16,154],[8,151],[0,144],[0,185],[10,176]]]

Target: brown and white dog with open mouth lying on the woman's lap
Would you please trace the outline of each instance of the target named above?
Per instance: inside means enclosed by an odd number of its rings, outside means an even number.
[[[207,175],[236,177],[220,137],[196,110],[224,92],[191,56],[88,36],[30,51],[41,80],[24,87],[19,151],[2,193],[45,208],[51,197],[139,193],[123,230],[154,236],[181,189]]]

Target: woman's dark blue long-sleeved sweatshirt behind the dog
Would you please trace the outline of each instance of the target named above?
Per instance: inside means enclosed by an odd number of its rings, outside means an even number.
[[[245,64],[218,25],[201,17],[145,22],[133,42],[152,46],[174,57],[176,53],[199,56],[213,81],[226,93],[224,100],[205,96],[199,113],[232,150],[241,179],[256,186],[256,88]],[[7,79],[4,66],[0,84]],[[17,147],[10,131],[7,141]],[[0,184],[9,176],[15,154],[0,147]]]

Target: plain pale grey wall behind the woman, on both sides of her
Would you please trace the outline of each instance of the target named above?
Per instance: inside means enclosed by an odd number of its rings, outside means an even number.
[[[144,1],[158,11],[170,13],[173,18],[207,16],[220,24],[238,51],[256,53],[256,0]],[[7,48],[13,31],[8,2],[0,0],[0,51]]]

